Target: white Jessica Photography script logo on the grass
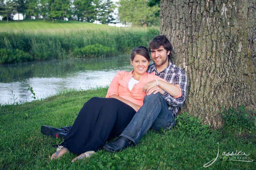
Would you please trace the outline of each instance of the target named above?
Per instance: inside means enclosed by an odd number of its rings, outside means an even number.
[[[219,142],[218,142],[219,144]],[[220,148],[218,146],[218,153],[215,159],[212,159],[211,161],[204,164],[204,167],[211,166],[218,158],[222,158],[227,161],[242,161],[242,162],[252,162],[253,160],[250,158],[251,153],[246,154],[243,151],[238,151],[234,153],[233,151],[230,153],[223,152],[221,155],[219,154]]]

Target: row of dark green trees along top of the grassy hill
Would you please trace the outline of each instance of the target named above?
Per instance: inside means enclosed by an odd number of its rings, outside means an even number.
[[[2,0],[0,16],[4,19],[19,13],[24,19],[43,17],[52,19],[100,21],[102,24],[115,23],[115,5],[111,0]]]

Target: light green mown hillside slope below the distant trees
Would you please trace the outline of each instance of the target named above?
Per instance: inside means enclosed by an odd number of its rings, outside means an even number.
[[[93,24],[79,21],[63,21],[56,20],[54,23],[52,21],[43,21],[43,19],[31,19],[31,20],[20,20],[20,21],[0,21],[0,31],[54,31],[54,30],[80,30],[80,29],[108,29],[113,28],[113,26],[108,26],[105,24]]]

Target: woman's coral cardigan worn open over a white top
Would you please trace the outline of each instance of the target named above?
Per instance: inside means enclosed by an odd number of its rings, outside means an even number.
[[[132,103],[142,106],[143,99],[146,95],[145,92],[142,92],[142,87],[146,83],[155,79],[165,81],[163,78],[156,76],[155,73],[146,72],[145,74],[140,76],[139,82],[134,84],[132,87],[132,91],[130,91],[128,88],[128,82],[130,81],[131,78],[132,78],[132,71],[131,72],[118,71],[116,76],[112,79],[109,85],[106,98],[109,98],[110,96],[116,94],[126,100],[131,101]]]

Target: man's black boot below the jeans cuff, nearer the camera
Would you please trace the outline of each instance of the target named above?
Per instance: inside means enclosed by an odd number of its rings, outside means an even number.
[[[119,152],[122,149],[130,147],[132,145],[133,145],[133,142],[127,139],[126,137],[118,137],[113,142],[110,142],[109,144],[104,144],[102,148],[108,152],[114,153],[114,152]]]

